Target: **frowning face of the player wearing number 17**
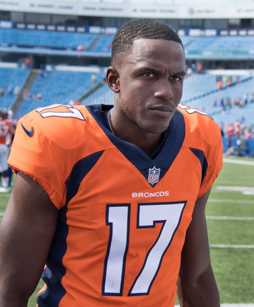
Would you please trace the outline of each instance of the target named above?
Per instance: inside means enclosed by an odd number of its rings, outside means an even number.
[[[122,55],[117,71],[120,92],[115,107],[123,125],[137,132],[165,131],[182,97],[185,55],[181,44],[135,40],[131,52]]]

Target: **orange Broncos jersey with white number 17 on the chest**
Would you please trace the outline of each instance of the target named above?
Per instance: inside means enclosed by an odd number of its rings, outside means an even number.
[[[220,130],[180,105],[152,159],[111,133],[111,107],[55,104],[18,122],[8,163],[59,209],[39,307],[174,306],[195,201],[222,167]]]

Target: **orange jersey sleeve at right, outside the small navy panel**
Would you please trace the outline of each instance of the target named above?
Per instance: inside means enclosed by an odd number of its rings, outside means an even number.
[[[215,124],[215,129],[212,131],[212,144],[207,145],[205,151],[205,157],[207,158],[207,172],[204,180],[200,186],[200,190],[197,198],[202,196],[205,192],[211,188],[215,179],[218,177],[223,165],[223,144],[219,127]],[[218,127],[218,129],[217,129]]]

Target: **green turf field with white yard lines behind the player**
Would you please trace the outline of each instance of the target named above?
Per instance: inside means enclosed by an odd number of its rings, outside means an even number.
[[[212,267],[221,303],[254,304],[254,159],[226,158],[251,165],[224,162],[212,187],[206,206]],[[9,196],[0,194],[0,214]],[[28,307],[35,306],[34,294]]]

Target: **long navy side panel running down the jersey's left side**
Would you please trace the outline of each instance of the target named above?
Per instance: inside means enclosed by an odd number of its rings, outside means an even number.
[[[66,239],[69,233],[69,226],[67,224],[66,213],[68,210],[68,203],[77,194],[81,181],[97,163],[103,152],[104,150],[93,153],[78,161],[73,166],[69,177],[65,181],[66,204],[59,211],[56,232],[46,261],[47,268],[42,272],[42,279],[46,283],[47,288],[37,296],[39,307],[58,306],[66,293],[61,283],[66,273],[61,259],[64,257],[67,250]]]

